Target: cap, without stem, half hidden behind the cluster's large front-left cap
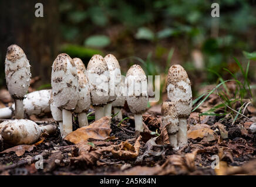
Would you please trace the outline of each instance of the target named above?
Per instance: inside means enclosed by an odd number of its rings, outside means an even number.
[[[75,112],[87,112],[90,108],[90,88],[85,76],[86,68],[80,58],[73,58],[76,64],[76,72],[78,73],[78,83],[79,83],[79,99],[76,105]]]

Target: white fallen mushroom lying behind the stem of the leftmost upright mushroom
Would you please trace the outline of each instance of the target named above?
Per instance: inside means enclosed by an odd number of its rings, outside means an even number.
[[[52,90],[43,89],[28,93],[24,96],[23,106],[26,115],[45,115],[50,112],[50,93]],[[0,119],[8,119],[12,117],[15,111],[15,104],[10,107],[0,109]]]

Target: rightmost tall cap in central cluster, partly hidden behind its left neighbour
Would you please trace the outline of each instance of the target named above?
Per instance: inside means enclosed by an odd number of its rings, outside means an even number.
[[[104,57],[104,60],[109,68],[109,102],[112,102],[116,100],[117,97],[117,89],[121,82],[121,70],[119,63],[113,54],[107,54],[107,56]]]

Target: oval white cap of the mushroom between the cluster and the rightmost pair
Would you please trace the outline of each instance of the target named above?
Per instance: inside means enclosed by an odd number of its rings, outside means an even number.
[[[140,65],[132,65],[127,71],[125,85],[127,104],[132,113],[141,114],[147,108],[147,77]]]

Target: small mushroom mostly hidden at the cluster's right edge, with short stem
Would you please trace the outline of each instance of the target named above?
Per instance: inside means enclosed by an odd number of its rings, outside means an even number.
[[[123,75],[121,77],[122,77],[121,82],[116,89],[117,98],[115,101],[112,102],[112,107],[114,108],[114,114],[117,114],[116,116],[114,116],[114,120],[119,122],[123,119],[121,109],[123,108],[125,99],[126,99],[126,96],[124,94],[125,77]]]

